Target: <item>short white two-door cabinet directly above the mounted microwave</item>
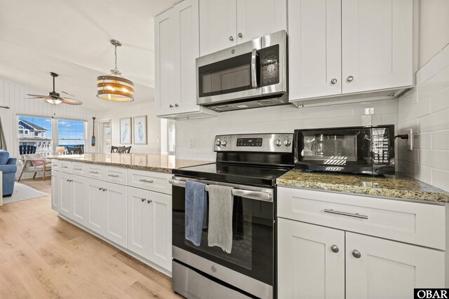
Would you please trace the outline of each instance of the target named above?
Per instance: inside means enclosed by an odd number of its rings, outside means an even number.
[[[287,30],[286,0],[200,0],[201,56]]]

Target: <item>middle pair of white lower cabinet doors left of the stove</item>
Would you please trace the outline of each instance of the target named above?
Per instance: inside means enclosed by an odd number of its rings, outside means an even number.
[[[126,186],[87,179],[86,226],[126,247]]]

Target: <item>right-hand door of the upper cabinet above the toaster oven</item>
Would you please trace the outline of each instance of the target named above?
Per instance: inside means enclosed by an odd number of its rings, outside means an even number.
[[[413,85],[413,0],[342,0],[342,83],[343,93]]]

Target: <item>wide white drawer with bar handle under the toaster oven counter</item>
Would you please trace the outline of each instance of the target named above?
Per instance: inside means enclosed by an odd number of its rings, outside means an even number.
[[[277,202],[282,218],[445,250],[445,206],[286,187]]]

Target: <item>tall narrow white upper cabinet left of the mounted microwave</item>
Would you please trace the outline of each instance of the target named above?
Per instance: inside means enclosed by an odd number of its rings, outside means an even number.
[[[155,19],[156,116],[187,118],[215,115],[196,105],[199,57],[199,3],[185,0]]]

